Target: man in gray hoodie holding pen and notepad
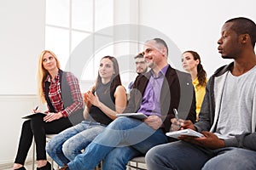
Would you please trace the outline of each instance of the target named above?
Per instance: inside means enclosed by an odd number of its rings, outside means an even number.
[[[224,23],[218,52],[234,59],[219,68],[207,83],[199,122],[176,122],[202,133],[148,151],[149,170],[256,169],[256,25],[247,18]]]

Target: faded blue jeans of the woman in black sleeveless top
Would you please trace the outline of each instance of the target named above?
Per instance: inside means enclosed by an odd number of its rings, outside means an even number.
[[[50,139],[46,144],[46,152],[62,167],[79,155],[104,128],[105,126],[98,122],[83,121]]]

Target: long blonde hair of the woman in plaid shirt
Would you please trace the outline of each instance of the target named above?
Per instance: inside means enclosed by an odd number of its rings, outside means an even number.
[[[45,70],[44,66],[43,66],[43,57],[44,57],[44,54],[46,54],[46,53],[51,54],[56,59],[56,65],[57,65],[58,69],[61,68],[59,59],[52,51],[44,50],[41,52],[41,54],[39,55],[39,59],[38,59],[38,96],[39,96],[39,99],[41,99],[41,101],[43,103],[46,102],[46,100],[44,98],[44,81],[45,81],[45,78],[49,75],[49,72],[47,70]]]

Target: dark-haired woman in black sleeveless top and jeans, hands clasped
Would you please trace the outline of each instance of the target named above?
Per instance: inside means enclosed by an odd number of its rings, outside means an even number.
[[[126,92],[119,77],[117,59],[101,59],[98,77],[90,91],[84,94],[84,118],[74,127],[59,133],[46,145],[49,156],[63,167],[81,153],[102,130],[122,113],[126,106]]]

